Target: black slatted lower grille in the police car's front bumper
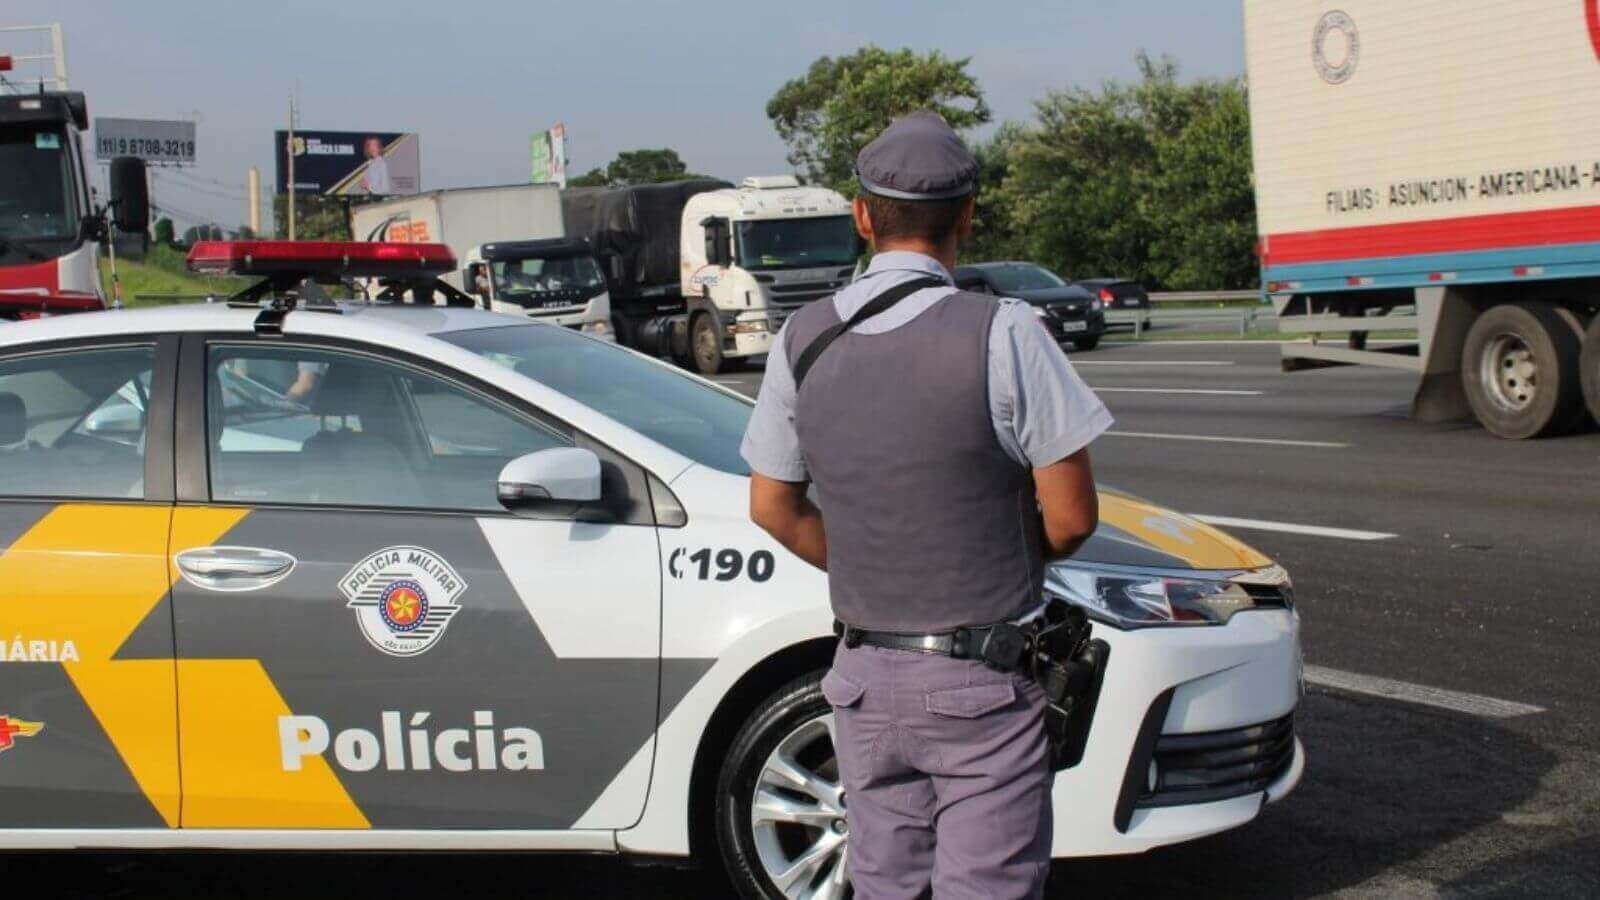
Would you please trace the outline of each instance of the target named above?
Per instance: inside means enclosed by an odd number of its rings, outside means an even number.
[[[1242,729],[1162,735],[1152,761],[1155,769],[1146,775],[1139,809],[1261,793],[1294,761],[1294,714]]]

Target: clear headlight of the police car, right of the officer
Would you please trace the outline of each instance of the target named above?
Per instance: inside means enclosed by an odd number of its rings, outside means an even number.
[[[1226,625],[1237,612],[1294,605],[1288,573],[1277,565],[1197,577],[1064,562],[1045,570],[1045,593],[1117,628]]]

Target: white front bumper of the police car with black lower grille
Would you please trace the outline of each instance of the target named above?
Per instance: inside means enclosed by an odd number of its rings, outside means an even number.
[[[1110,658],[1083,761],[1056,773],[1056,857],[1192,841],[1245,825],[1294,790],[1306,769],[1293,735],[1296,613],[1139,631],[1096,625],[1094,634]]]

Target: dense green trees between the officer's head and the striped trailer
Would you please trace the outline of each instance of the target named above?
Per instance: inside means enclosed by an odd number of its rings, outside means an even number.
[[[1139,82],[1051,91],[1035,123],[979,146],[986,195],[971,258],[1147,288],[1254,287],[1243,80],[1181,83],[1168,58],[1138,62]]]

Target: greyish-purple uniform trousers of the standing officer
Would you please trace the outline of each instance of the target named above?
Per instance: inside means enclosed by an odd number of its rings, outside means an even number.
[[[1043,895],[1054,773],[1032,677],[840,644],[822,693],[859,900]]]

